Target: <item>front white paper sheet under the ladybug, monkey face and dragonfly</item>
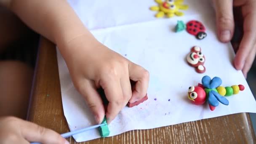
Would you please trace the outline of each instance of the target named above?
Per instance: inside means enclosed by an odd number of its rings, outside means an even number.
[[[82,3],[82,1],[79,2]],[[99,0],[94,2],[99,3]],[[130,2],[126,1],[126,3],[131,5]],[[148,5],[154,3],[144,0],[144,4],[147,5],[145,7],[147,11]],[[209,9],[211,8],[208,7],[208,11]],[[137,13],[140,10],[141,8],[134,9]],[[80,16],[82,15],[83,12],[80,13]],[[118,15],[119,13],[109,13],[110,17],[115,17],[113,21],[120,20]],[[149,15],[148,18],[153,17],[152,13],[147,13],[147,15]],[[138,14],[138,16],[141,15]],[[187,22],[192,19],[202,21],[205,25],[208,34],[205,39],[196,40],[195,36],[186,31],[173,32],[177,20]],[[154,21],[141,21],[136,24],[120,24],[116,27],[91,30],[101,43],[141,65],[150,73],[149,99],[139,106],[125,107],[109,125],[109,136],[115,136],[125,131],[158,128],[239,112],[256,112],[256,101],[242,72],[232,67],[232,59],[235,56],[232,46],[217,40],[213,19],[212,12],[193,13],[172,19],[155,19]],[[122,20],[124,19],[120,21]],[[127,21],[131,22],[132,20]],[[108,25],[105,26],[108,27]],[[185,61],[190,48],[194,45],[200,46],[205,55],[206,72],[204,74],[195,72],[195,69]],[[94,117],[82,96],[75,90],[67,66],[58,50],[57,56],[64,115],[70,130],[74,131],[95,125]],[[209,109],[207,103],[203,106],[196,106],[187,98],[187,90],[189,86],[201,83],[204,75],[221,77],[223,86],[243,84],[245,90],[240,91],[237,95],[227,97],[229,106],[220,104],[214,111]],[[81,142],[99,138],[100,135],[95,129],[73,137],[77,142]]]

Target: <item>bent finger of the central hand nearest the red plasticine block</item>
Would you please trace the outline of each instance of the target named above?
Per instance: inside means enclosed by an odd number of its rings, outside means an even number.
[[[130,102],[142,99],[147,94],[149,86],[149,72],[137,64],[129,64],[130,79],[135,81],[135,89],[132,92]]]

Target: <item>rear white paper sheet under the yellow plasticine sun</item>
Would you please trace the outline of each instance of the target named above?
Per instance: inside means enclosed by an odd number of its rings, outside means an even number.
[[[211,13],[210,0],[184,0],[189,9],[185,15]],[[68,0],[81,21],[88,29],[101,29],[120,25],[155,20],[156,11],[150,11],[157,5],[154,0]]]

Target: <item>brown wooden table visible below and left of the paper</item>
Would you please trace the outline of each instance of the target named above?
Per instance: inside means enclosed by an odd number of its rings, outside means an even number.
[[[40,42],[28,120],[58,133],[69,131],[62,109],[55,45],[44,38]],[[71,144],[76,143],[72,137],[67,140]],[[256,143],[256,139],[249,114],[240,113],[150,130],[128,131],[117,136],[84,142],[87,143],[251,144]]]

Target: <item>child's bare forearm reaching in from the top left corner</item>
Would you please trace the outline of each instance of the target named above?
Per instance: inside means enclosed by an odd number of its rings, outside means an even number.
[[[94,40],[66,0],[0,0],[36,32],[57,45],[65,45],[76,37]]]

